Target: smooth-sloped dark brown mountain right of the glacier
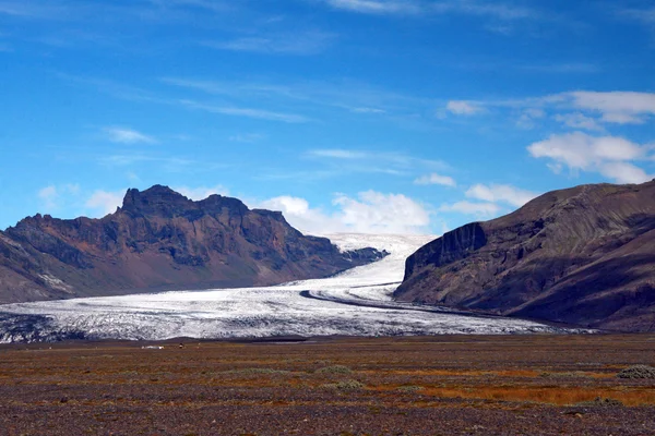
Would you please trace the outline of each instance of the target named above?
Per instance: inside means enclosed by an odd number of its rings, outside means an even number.
[[[655,181],[555,191],[445,233],[407,258],[394,296],[655,331]]]

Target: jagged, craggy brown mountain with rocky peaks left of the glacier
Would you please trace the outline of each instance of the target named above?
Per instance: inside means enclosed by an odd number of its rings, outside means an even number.
[[[25,218],[0,232],[0,303],[320,278],[386,253],[342,253],[237,198],[129,190],[102,219]]]

